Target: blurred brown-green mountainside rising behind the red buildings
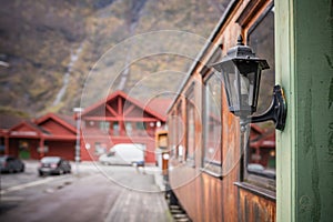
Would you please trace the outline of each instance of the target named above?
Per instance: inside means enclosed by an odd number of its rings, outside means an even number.
[[[1,4],[0,61],[9,67],[0,67],[0,105],[30,115],[71,114],[80,105],[89,73],[105,73],[94,85],[109,91],[134,89],[138,98],[149,98],[160,85],[175,91],[182,78],[167,74],[171,79],[165,85],[162,74],[152,73],[186,72],[192,63],[189,58],[155,54],[132,61],[133,51],[140,49],[129,48],[123,53],[128,68],[117,77],[108,70],[119,61],[98,61],[108,50],[147,32],[179,30],[208,38],[226,7],[224,0],[7,0]],[[104,85],[109,78],[114,83]],[[144,84],[135,89],[138,82]],[[92,92],[89,102],[98,93]]]

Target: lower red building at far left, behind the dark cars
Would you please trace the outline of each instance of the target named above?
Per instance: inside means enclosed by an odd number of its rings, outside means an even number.
[[[52,113],[23,121],[6,133],[4,153],[22,159],[61,155],[73,160],[77,133],[72,123],[72,119]]]

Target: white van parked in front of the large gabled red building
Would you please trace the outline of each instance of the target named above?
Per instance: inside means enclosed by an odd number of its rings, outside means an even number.
[[[115,144],[105,154],[100,155],[102,164],[144,165],[144,145],[133,143]]]

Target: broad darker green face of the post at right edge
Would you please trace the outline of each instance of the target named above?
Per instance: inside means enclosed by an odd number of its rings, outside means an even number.
[[[332,0],[294,2],[297,221],[332,221]]]

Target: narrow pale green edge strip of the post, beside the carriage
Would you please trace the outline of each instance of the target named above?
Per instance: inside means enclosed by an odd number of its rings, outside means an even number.
[[[294,211],[294,47],[293,8],[289,0],[275,1],[275,81],[284,89],[287,102],[286,125],[276,132],[276,219],[293,221]]]

